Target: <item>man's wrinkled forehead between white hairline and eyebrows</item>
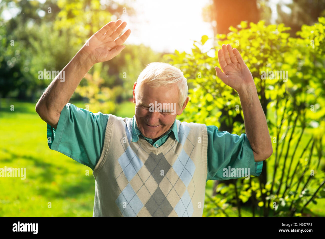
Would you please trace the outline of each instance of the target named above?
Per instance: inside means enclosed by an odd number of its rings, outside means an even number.
[[[139,103],[177,103],[179,100],[178,86],[175,84],[167,86],[150,87],[146,83],[137,89]]]

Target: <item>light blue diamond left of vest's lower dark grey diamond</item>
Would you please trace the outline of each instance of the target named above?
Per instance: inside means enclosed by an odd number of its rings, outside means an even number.
[[[135,217],[143,207],[130,183],[126,185],[115,201],[124,217]],[[123,207],[124,206],[124,207]]]

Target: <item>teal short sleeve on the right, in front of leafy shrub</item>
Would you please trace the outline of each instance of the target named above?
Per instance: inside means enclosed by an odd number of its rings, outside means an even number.
[[[253,149],[245,133],[231,134],[218,131],[209,125],[208,131],[208,176],[207,180],[228,180],[259,176],[263,161],[255,162]]]

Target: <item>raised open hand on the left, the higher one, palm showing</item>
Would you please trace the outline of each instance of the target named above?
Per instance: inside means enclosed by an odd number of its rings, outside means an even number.
[[[125,48],[122,44],[129,37],[131,30],[128,29],[122,36],[117,38],[126,26],[125,21],[123,21],[122,24],[121,22],[122,20],[118,19],[115,22],[111,21],[107,23],[92,35],[82,47],[93,64],[108,61],[120,54]]]

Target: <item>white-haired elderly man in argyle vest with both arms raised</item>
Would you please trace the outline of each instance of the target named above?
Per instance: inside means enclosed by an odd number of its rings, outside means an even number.
[[[259,176],[272,155],[252,74],[236,48],[222,45],[223,72],[215,70],[239,94],[246,129],[240,136],[176,120],[189,100],[187,82],[166,63],[150,63],[140,73],[132,119],[69,104],[93,64],[123,50],[131,31],[117,37],[125,26],[117,20],[101,28],[63,69],[65,80],[58,75],[47,87],[36,112],[47,122],[48,145],[93,170],[93,216],[202,216],[209,179]]]

